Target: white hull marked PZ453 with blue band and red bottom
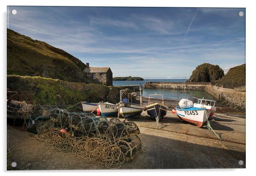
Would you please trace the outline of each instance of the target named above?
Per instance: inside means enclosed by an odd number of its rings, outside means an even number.
[[[181,109],[176,107],[177,116],[188,123],[194,124],[201,127],[206,121],[207,117],[205,115],[205,110],[203,108],[191,107],[186,109]]]

